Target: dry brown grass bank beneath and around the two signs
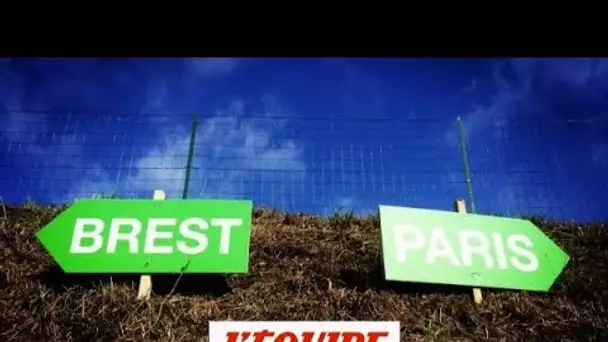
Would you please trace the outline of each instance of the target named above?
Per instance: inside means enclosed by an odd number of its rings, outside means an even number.
[[[399,320],[403,341],[608,340],[605,225],[537,222],[572,257],[550,293],[383,281],[376,217],[256,210],[248,275],[68,276],[35,238],[58,210],[0,209],[0,340],[201,341],[208,320]]]

